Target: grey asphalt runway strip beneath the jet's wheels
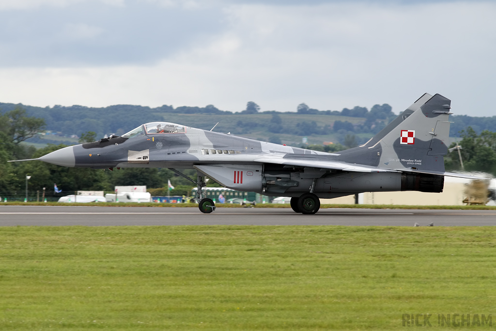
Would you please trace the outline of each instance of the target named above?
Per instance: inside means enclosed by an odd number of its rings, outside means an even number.
[[[117,225],[378,225],[492,226],[496,210],[320,209],[314,215],[291,208],[198,208],[0,206],[0,226]]]

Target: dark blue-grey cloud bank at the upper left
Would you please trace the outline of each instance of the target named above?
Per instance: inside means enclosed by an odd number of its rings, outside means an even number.
[[[216,34],[222,17],[140,1],[0,11],[0,67],[150,65]]]

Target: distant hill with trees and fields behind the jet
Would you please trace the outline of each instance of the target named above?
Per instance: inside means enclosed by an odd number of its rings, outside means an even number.
[[[254,105],[254,106],[253,106]],[[111,133],[123,134],[140,124],[154,121],[166,121],[189,127],[210,130],[217,122],[216,132],[281,142],[288,145],[301,145],[302,138],[308,137],[310,144],[322,144],[324,141],[343,143],[347,135],[355,135],[356,142],[370,139],[387,123],[396,117],[388,104],[374,105],[371,110],[365,107],[344,108],[342,111],[319,111],[301,104],[297,112],[258,112],[258,106],[249,102],[247,110],[240,113],[222,111],[213,105],[205,107],[182,106],[174,108],[163,105],[150,108],[134,105],[114,105],[104,108],[85,106],[34,107],[22,104],[0,103],[0,112],[10,111],[15,107],[26,109],[31,116],[44,118],[46,130],[54,134],[42,138],[32,138],[33,143],[77,143],[81,133],[94,131],[97,137]],[[496,116],[470,117],[452,116],[450,136],[468,126],[476,132],[496,131]]]

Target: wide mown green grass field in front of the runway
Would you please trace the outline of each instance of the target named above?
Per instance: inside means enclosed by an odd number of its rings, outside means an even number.
[[[496,311],[494,227],[0,231],[0,330],[397,330],[403,313]]]

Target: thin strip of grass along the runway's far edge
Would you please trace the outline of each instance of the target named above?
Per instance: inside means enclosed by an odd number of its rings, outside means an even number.
[[[88,203],[63,203],[63,202],[0,202],[2,205],[14,206],[100,206],[100,207],[198,207],[197,203],[116,203],[116,202],[88,202]],[[219,208],[243,208],[238,203],[216,203]],[[258,203],[255,208],[291,208],[289,203]],[[407,204],[322,204],[320,208],[361,208],[361,209],[453,209],[453,210],[496,210],[496,206],[484,205],[407,205]]]

